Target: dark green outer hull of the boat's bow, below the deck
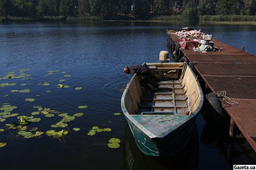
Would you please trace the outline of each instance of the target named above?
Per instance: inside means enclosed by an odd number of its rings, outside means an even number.
[[[164,138],[147,138],[146,133],[137,128],[137,126],[128,118],[128,125],[135,138],[138,148],[148,156],[171,157],[179,154],[187,146],[193,129],[197,115],[193,115],[186,124],[179,126],[173,132],[164,136]]]

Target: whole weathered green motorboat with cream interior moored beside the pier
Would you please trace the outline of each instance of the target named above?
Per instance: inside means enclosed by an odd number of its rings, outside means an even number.
[[[138,148],[148,156],[180,153],[193,132],[203,105],[197,77],[185,63],[144,63],[151,68],[156,89],[141,85],[134,74],[121,99],[121,107]]]

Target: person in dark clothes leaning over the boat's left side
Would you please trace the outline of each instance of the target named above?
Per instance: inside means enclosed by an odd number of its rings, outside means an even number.
[[[125,74],[131,74],[132,76],[137,73],[141,77],[141,85],[146,87],[150,87],[152,90],[155,90],[155,88],[159,87],[158,83],[155,83],[151,80],[153,76],[150,74],[151,69],[146,65],[132,65],[130,67],[125,67],[124,72]],[[154,86],[154,87],[152,87]]]

